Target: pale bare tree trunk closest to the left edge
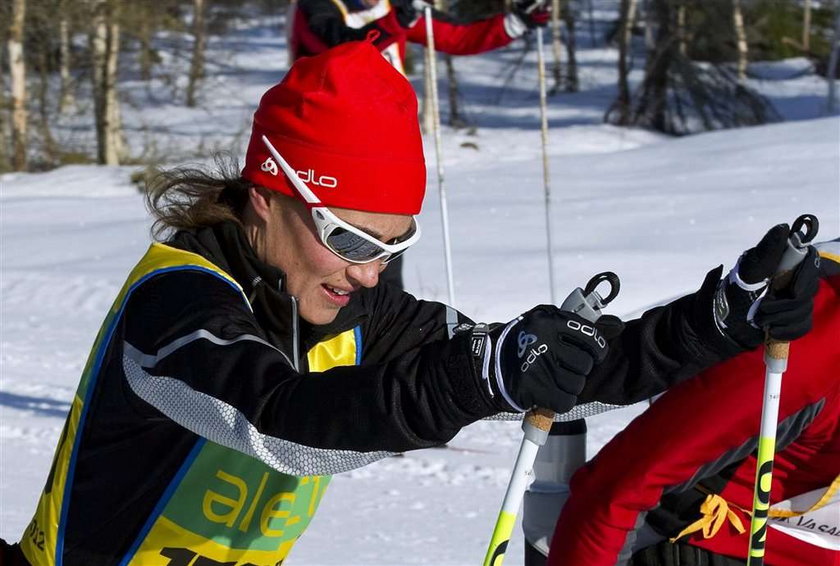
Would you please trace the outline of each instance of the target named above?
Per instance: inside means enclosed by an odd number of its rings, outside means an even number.
[[[12,169],[26,170],[27,112],[26,112],[26,64],[23,58],[23,21],[26,16],[26,1],[12,0],[9,39],[9,80],[12,108]]]

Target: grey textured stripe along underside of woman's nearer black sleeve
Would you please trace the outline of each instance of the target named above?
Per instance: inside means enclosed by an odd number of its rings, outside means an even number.
[[[126,344],[126,347],[129,346]],[[174,422],[217,444],[248,454],[284,474],[336,474],[392,455],[391,452],[312,448],[262,434],[245,415],[224,401],[196,391],[176,378],[147,373],[139,360],[129,355],[128,349],[123,355],[123,371],[132,391]]]

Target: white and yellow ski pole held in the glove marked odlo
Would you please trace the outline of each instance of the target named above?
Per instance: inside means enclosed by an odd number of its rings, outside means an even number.
[[[602,298],[596,290],[598,285],[604,281],[610,285],[610,292],[606,298]],[[577,288],[572,291],[560,305],[560,310],[573,312],[594,323],[601,316],[601,310],[618,295],[618,289],[618,275],[611,271],[599,273],[589,280],[585,289]],[[554,412],[541,408],[528,411],[522,421],[522,430],[525,435],[522,438],[522,444],[519,446],[519,453],[513,465],[513,472],[511,472],[510,482],[502,501],[502,508],[496,519],[496,526],[493,528],[490,546],[487,548],[487,554],[484,557],[484,566],[501,566],[504,560],[510,535],[516,524],[519,505],[522,503],[528,482],[534,474],[534,460],[537,457],[537,451],[540,446],[545,444],[553,422]]]

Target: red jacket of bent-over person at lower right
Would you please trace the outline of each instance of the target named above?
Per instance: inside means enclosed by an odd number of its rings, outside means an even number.
[[[768,566],[840,565],[840,240],[819,248],[814,327],[791,344],[782,380]],[[623,564],[645,521],[746,560],[762,356],[746,352],[677,385],[578,470],[548,565]]]

